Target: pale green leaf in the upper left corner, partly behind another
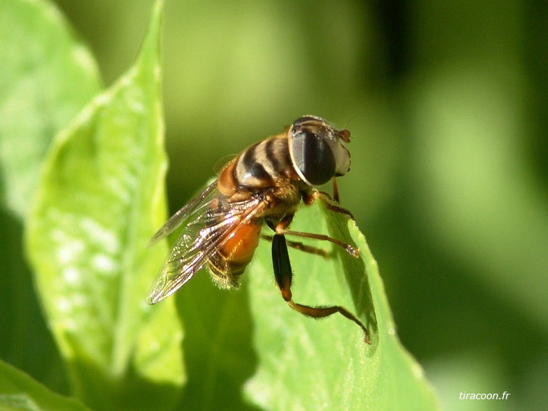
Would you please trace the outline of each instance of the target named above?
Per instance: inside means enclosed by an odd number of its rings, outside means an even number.
[[[98,93],[95,62],[46,1],[0,2],[2,197],[28,213],[53,136]]]

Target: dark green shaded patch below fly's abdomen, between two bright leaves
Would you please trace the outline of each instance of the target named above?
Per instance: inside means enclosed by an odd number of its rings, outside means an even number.
[[[242,390],[257,367],[245,282],[237,291],[221,290],[202,270],[176,294],[188,373],[181,410],[185,404],[199,404],[197,410],[255,410]]]

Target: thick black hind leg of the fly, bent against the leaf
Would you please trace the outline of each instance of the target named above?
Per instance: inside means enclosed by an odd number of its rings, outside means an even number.
[[[299,311],[304,314],[304,316],[312,318],[325,318],[331,316],[334,313],[340,313],[349,320],[356,322],[357,325],[363,329],[365,336],[365,343],[370,343],[369,337],[367,334],[367,328],[365,325],[354,316],[350,311],[344,307],[338,305],[330,307],[310,307],[308,305],[298,304],[293,302],[292,293],[291,293],[291,279],[293,273],[291,272],[291,262],[289,261],[289,253],[287,251],[287,244],[284,235],[275,234],[272,239],[272,264],[274,266],[274,275],[282,297],[287,302],[289,307],[295,311]]]

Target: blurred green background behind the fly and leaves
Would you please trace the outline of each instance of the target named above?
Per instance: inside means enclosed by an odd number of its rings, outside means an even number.
[[[111,84],[134,61],[153,1],[56,3]],[[304,114],[349,128],[343,206],[378,261],[403,345],[442,405],[545,408],[547,21],[545,1],[167,0],[170,212],[220,158]],[[19,239],[17,223],[2,221],[5,235]],[[6,255],[21,253],[17,241],[10,244]],[[13,271],[23,263],[0,264]],[[30,318],[38,316],[31,289],[13,289],[28,295]],[[241,376],[217,376],[234,394],[255,366],[250,336],[242,337],[252,327],[246,292],[219,291],[201,276],[178,303],[188,331],[189,401],[206,390],[199,375],[212,354],[200,342],[215,338],[216,307],[239,318],[227,332],[248,355],[224,366]],[[2,358],[31,369],[27,352],[5,348],[17,338],[35,338],[35,356],[51,351],[51,365],[35,378],[66,390],[51,377],[57,362],[44,325],[0,337]],[[504,391],[511,393],[504,403],[459,400],[461,392]]]

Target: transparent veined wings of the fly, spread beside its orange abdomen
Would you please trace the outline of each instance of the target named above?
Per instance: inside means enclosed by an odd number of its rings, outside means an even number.
[[[152,244],[186,222],[150,288],[149,304],[156,304],[180,289],[230,239],[241,223],[248,223],[266,206],[259,198],[228,203],[214,184],[216,182],[181,208],[154,235]]]

